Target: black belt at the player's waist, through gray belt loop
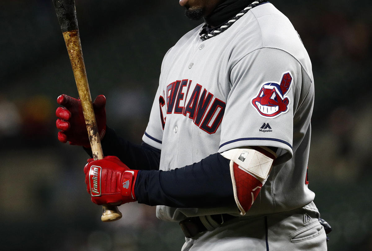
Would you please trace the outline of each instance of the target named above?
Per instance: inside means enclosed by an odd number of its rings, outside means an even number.
[[[223,223],[235,218],[237,218],[237,216],[232,216],[227,213],[190,217],[180,221],[180,226],[183,234],[185,234],[187,238],[193,238],[197,234],[201,234],[205,231],[212,231],[221,226]]]

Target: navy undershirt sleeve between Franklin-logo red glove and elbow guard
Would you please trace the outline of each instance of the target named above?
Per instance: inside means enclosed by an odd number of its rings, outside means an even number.
[[[139,203],[187,208],[235,205],[230,160],[212,154],[169,171],[140,171],[134,192]]]

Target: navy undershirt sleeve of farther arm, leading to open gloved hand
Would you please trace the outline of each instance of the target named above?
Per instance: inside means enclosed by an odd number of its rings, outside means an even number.
[[[130,169],[134,170],[159,170],[161,150],[142,142],[141,145],[131,142],[116,135],[116,132],[107,127],[105,137],[101,141],[104,156],[116,156]],[[92,150],[84,150],[92,157]]]

